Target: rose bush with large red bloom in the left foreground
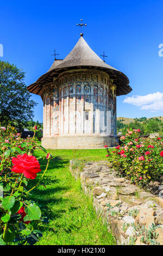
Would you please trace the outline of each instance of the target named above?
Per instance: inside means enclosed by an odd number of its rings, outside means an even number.
[[[35,222],[41,221],[41,210],[29,196],[40,184],[52,157],[35,139],[36,129],[33,138],[22,139],[14,127],[0,125],[0,245],[34,245],[42,236],[34,229]],[[28,190],[28,181],[41,172],[33,156],[36,148],[48,156],[47,166],[37,184]]]

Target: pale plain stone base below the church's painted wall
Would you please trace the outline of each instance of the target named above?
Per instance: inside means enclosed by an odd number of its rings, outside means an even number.
[[[44,136],[41,145],[47,149],[93,149],[114,147],[117,142],[116,136],[106,135],[74,135],[74,136]]]

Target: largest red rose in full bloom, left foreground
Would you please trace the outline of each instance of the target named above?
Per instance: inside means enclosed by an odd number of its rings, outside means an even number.
[[[28,156],[27,154],[12,157],[14,166],[11,171],[14,173],[23,173],[28,179],[35,179],[37,173],[41,172],[40,163],[35,156]]]

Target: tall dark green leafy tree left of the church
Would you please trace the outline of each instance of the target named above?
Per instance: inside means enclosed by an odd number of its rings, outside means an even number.
[[[24,123],[33,118],[36,102],[24,83],[25,72],[16,65],[0,60],[0,123],[9,123],[22,130]]]

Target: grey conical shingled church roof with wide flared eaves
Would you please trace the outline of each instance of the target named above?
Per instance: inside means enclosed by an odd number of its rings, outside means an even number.
[[[27,89],[30,93],[42,95],[43,84],[53,82],[53,77],[57,77],[65,70],[80,68],[97,69],[108,73],[110,78],[114,79],[114,84],[117,86],[117,96],[128,94],[132,90],[129,86],[128,77],[103,62],[103,60],[92,51],[83,36],[80,36],[77,44],[64,60],[55,60],[48,72],[42,75],[35,83],[30,84]]]

